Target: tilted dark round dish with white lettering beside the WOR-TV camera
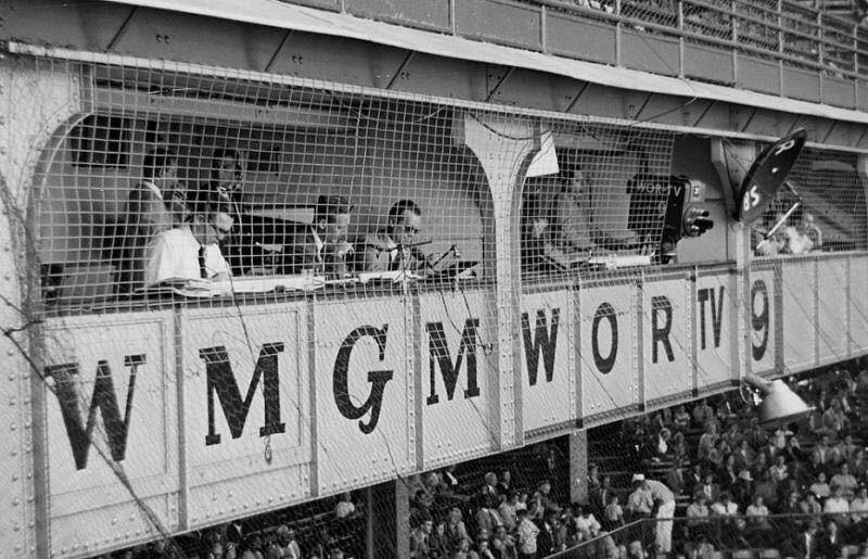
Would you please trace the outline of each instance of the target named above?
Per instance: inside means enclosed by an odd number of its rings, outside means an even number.
[[[768,203],[787,180],[805,145],[807,134],[800,128],[767,148],[751,165],[741,185],[741,207],[737,217],[749,224],[762,217]]]

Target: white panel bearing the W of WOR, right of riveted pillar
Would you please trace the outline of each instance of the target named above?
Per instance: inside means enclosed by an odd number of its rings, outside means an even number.
[[[576,418],[572,301],[570,290],[522,297],[520,367],[525,431]]]

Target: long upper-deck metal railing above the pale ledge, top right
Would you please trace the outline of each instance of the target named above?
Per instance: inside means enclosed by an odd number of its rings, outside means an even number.
[[[868,27],[791,0],[444,0],[430,10],[414,0],[284,1],[864,110]],[[800,91],[805,79],[816,94]]]

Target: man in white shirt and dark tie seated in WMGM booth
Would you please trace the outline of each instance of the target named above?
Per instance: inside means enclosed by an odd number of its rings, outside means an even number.
[[[232,225],[228,204],[212,202],[189,226],[157,234],[148,245],[144,284],[169,279],[229,279],[232,272],[218,243],[231,234]]]

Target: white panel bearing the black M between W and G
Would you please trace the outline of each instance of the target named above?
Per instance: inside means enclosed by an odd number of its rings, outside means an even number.
[[[305,308],[286,303],[182,312],[191,526],[308,494]]]

